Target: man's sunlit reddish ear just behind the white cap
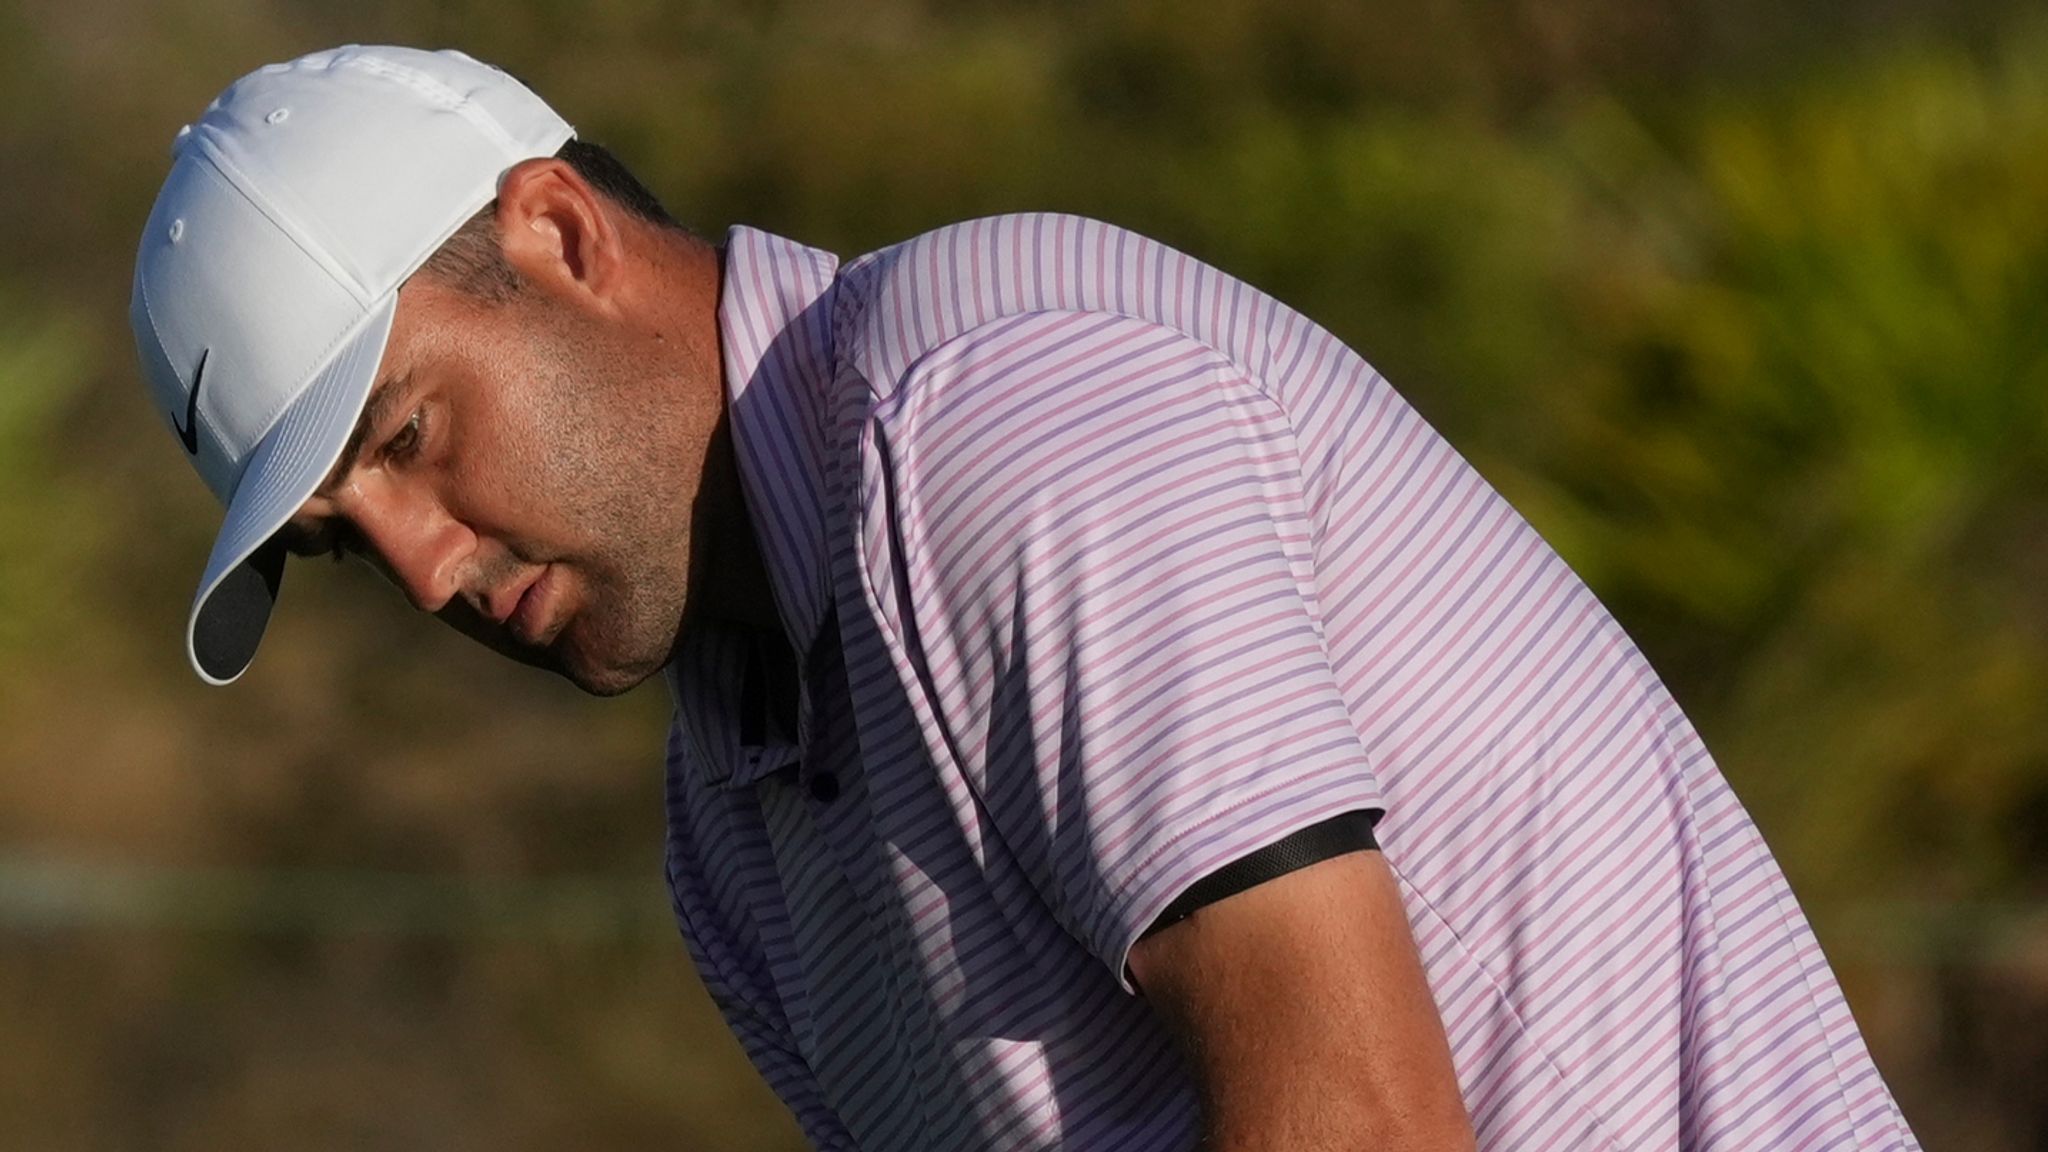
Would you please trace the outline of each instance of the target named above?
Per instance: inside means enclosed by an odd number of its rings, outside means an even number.
[[[553,156],[522,160],[498,182],[498,240],[535,285],[608,312],[625,242],[604,195]]]

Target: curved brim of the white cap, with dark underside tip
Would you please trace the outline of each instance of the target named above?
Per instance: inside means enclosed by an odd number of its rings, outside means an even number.
[[[395,314],[397,293],[373,305],[250,453],[184,625],[186,656],[209,685],[233,683],[256,658],[285,576],[285,547],[272,537],[340,459]]]

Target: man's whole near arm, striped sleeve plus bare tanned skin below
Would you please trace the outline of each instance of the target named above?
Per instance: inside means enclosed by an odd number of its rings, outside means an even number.
[[[864,527],[893,553],[877,613],[918,635],[897,674],[932,701],[936,754],[1051,914],[1180,1029],[1217,1148],[1470,1148],[1378,853],[1139,939],[1278,838],[1384,810],[1288,412],[1176,332],[1047,314],[928,357],[872,443],[895,498]]]

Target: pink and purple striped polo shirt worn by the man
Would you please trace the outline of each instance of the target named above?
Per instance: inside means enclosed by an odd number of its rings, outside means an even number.
[[[1124,957],[1348,812],[1483,1148],[1915,1148],[1642,656],[1331,334],[1067,215],[725,260],[782,629],[678,646],[668,877],[817,1148],[1192,1148]]]

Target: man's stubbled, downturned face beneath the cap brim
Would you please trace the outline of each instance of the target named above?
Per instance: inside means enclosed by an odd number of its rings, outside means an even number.
[[[530,285],[492,303],[414,277],[356,439],[287,539],[360,553],[422,611],[584,691],[627,691],[682,619],[717,412],[678,381],[700,359]]]

